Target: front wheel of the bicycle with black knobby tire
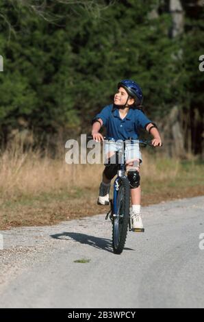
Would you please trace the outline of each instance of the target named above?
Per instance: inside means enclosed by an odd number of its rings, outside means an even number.
[[[112,225],[112,247],[114,253],[120,254],[125,247],[127,237],[130,189],[127,177],[120,177],[118,184],[117,212]]]

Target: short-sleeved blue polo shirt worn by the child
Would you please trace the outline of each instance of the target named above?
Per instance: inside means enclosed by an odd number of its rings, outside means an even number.
[[[146,125],[152,123],[146,115],[138,109],[129,109],[124,119],[120,119],[119,110],[113,109],[113,104],[105,106],[94,120],[101,119],[106,128],[106,136],[115,140],[138,140],[140,129],[145,129]]]

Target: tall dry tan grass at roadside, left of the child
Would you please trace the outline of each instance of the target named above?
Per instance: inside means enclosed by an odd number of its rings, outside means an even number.
[[[23,151],[13,144],[0,156],[1,199],[97,186],[102,164],[66,164],[64,156],[65,151],[55,159],[49,153],[42,157],[39,149]]]

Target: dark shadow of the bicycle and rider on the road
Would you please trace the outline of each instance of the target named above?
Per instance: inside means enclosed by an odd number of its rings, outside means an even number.
[[[70,237],[70,238],[67,238]],[[77,232],[63,232],[62,234],[51,235],[51,238],[55,239],[73,239],[81,244],[90,245],[98,249],[104,249],[105,251],[113,252],[112,250],[112,240],[107,238],[98,238],[95,236],[90,236],[86,234],[81,234]],[[133,250],[130,248],[124,248],[124,250]]]

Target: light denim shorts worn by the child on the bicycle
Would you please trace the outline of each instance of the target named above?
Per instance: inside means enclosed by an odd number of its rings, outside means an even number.
[[[123,147],[123,150],[124,150],[123,143],[121,144],[118,142],[111,142],[111,143],[105,142],[104,144],[105,163],[107,163],[107,153],[118,151],[120,147]],[[125,161],[127,162],[128,160],[136,160],[136,159],[139,159],[140,163],[142,163],[142,154],[140,152],[140,146],[139,146],[138,140],[134,140],[133,144],[126,143],[125,145]],[[124,162],[123,158],[120,160],[120,163],[121,162]],[[136,164],[138,164],[138,162],[136,162]]]

